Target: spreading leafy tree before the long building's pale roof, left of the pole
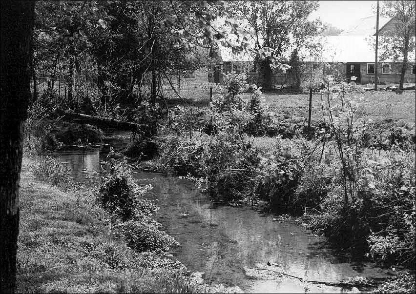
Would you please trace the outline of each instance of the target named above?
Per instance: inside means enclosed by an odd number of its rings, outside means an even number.
[[[274,62],[283,62],[287,50],[307,45],[305,39],[317,34],[317,23],[308,17],[318,6],[318,1],[230,1],[230,15],[242,20],[254,44],[264,89],[271,87]]]

